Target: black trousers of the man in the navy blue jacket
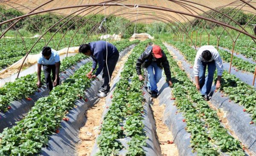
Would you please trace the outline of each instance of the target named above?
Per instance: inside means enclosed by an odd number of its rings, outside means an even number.
[[[108,93],[110,90],[110,85],[109,83],[109,77],[111,78],[113,71],[116,67],[116,63],[118,61],[119,58],[119,52],[116,51],[110,58],[108,58],[108,69],[107,69],[107,65],[105,63],[104,68],[103,68],[103,75],[102,78],[104,79],[102,88],[100,89],[100,91],[102,91],[103,93]],[[108,77],[108,71],[109,71],[109,77]]]

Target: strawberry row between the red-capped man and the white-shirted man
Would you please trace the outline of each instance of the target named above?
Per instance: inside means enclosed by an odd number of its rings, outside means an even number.
[[[163,43],[156,42],[156,44],[159,44],[164,51],[167,51]],[[221,126],[216,112],[204,101],[186,73],[180,70],[169,53],[166,56],[173,73],[172,79],[174,79],[173,99],[175,100],[175,105],[185,117],[183,119],[183,122],[186,122],[185,129],[191,133],[190,142],[194,149],[192,152],[196,151],[198,156],[218,156],[222,152],[244,156],[239,141],[230,136],[227,130]]]

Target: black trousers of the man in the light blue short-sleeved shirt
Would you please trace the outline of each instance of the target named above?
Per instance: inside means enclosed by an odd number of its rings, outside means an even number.
[[[52,85],[52,81],[55,80],[55,75],[56,75],[56,66],[55,65],[43,65],[43,69],[44,69],[44,77],[45,77],[45,82],[46,82],[46,86],[48,91],[52,91],[53,85]],[[51,73],[52,73],[52,79],[51,79]],[[57,85],[59,85],[60,81],[57,81]]]

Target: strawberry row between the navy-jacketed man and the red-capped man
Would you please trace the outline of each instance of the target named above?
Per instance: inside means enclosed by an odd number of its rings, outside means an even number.
[[[124,69],[121,72],[121,79],[116,84],[116,89],[111,96],[112,105],[109,107],[104,121],[102,122],[101,134],[97,139],[99,147],[98,156],[115,155],[123,148],[118,139],[131,137],[128,142],[129,148],[127,156],[145,155],[143,146],[145,146],[146,137],[143,136],[143,123],[141,111],[143,111],[143,96],[141,87],[143,82],[138,80],[137,74],[134,71],[134,60],[141,54],[151,41],[146,40],[139,43],[132,54],[125,62]],[[129,79],[132,78],[131,83]],[[126,124],[121,126],[123,120]]]

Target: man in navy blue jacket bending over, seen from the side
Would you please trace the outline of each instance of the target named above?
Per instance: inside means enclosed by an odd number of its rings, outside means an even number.
[[[102,88],[98,91],[99,94],[97,94],[97,96],[100,98],[107,96],[107,93],[110,90],[110,78],[119,58],[119,52],[117,48],[106,41],[96,41],[80,45],[79,53],[83,53],[93,58],[92,69],[89,73],[86,74],[88,78],[91,79],[97,77],[103,70],[102,78],[104,79],[104,82]],[[96,70],[96,73],[92,75],[93,71],[97,67],[97,64],[99,64],[99,67]]]

